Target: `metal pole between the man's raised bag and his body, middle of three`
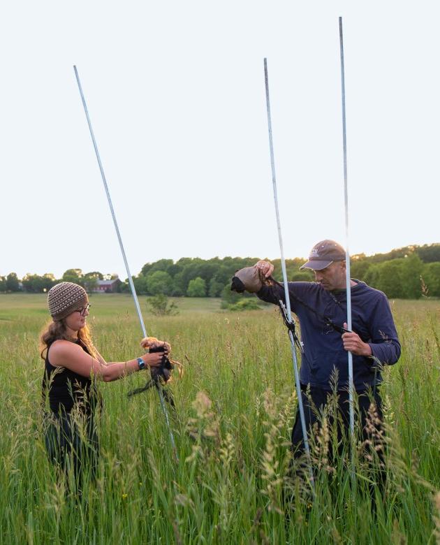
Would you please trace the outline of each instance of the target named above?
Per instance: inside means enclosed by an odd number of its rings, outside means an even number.
[[[264,59],[264,76],[265,76],[265,87],[266,87],[267,126],[268,126],[268,129],[269,129],[270,166],[272,168],[272,185],[273,185],[273,189],[274,189],[275,213],[277,215],[279,249],[280,249],[280,252],[281,252],[281,269],[283,271],[283,282],[284,282],[284,296],[286,298],[287,317],[288,317],[289,321],[292,321],[291,299],[290,299],[290,296],[289,296],[289,293],[288,293],[286,260],[284,259],[283,238],[282,238],[282,235],[281,235],[281,221],[279,219],[279,209],[278,209],[277,177],[275,175],[274,146],[273,146],[273,141],[272,141],[272,120],[271,120],[271,115],[270,115],[269,77],[267,75],[267,59]],[[295,340],[293,338],[293,333],[292,333],[291,330],[289,330],[288,336],[291,339],[293,374],[295,375],[296,393],[297,393],[297,396],[298,396],[298,407],[300,409],[302,439],[304,440],[305,453],[307,455],[307,458],[310,461],[309,439],[307,438],[307,428],[306,428],[306,423],[305,423],[304,407],[302,405],[302,392],[301,392],[300,374],[298,372],[298,361],[297,361],[296,351],[295,351]]]

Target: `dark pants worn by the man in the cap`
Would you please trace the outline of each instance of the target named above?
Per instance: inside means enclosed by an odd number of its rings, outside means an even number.
[[[309,443],[311,444],[312,459],[314,458],[314,437],[319,434],[322,426],[322,415],[325,412],[327,416],[328,431],[329,431],[329,449],[328,463],[335,467],[337,456],[342,456],[344,449],[347,451],[349,440],[349,393],[347,391],[337,392],[337,401],[332,398],[332,392],[323,390],[322,388],[309,388],[306,391],[302,390],[302,404],[304,406],[305,423],[309,433]],[[374,404],[374,412],[369,409],[371,403]],[[365,460],[370,460],[369,467],[373,467],[372,461],[376,459],[379,466],[376,469],[376,484],[381,488],[384,485],[385,470],[383,465],[383,414],[382,402],[379,391],[376,389],[374,393],[365,391],[355,394],[355,433],[356,437],[362,442],[362,453],[365,455]],[[325,409],[327,409],[325,411]],[[336,437],[332,437],[332,432],[336,431]],[[322,437],[322,436],[321,436]],[[333,440],[332,440],[333,439]],[[337,444],[335,442],[337,441]],[[297,409],[295,424],[292,430],[292,450],[294,460],[298,460],[304,454],[304,439],[302,437],[302,426],[300,419],[300,411]],[[293,463],[295,466],[295,463]]]

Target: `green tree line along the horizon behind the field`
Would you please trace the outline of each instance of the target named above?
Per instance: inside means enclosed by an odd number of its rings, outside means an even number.
[[[219,297],[233,301],[230,279],[236,270],[254,265],[256,257],[225,257],[200,259],[184,257],[178,261],[159,259],[145,263],[140,273],[133,277],[135,289],[140,294],[175,297]],[[281,262],[272,260],[274,277],[281,279]],[[286,261],[288,279],[310,281],[311,271],[300,271],[304,259]],[[388,254],[351,256],[351,277],[380,289],[389,298],[418,299],[422,296],[440,297],[440,244],[407,246],[393,249]],[[15,273],[0,277],[0,291],[41,293],[61,280],[81,284],[93,291],[98,279],[115,279],[117,275],[103,275],[98,271],[82,273],[81,269],[68,269],[61,277],[47,273],[43,276],[28,274],[20,279]],[[129,291],[128,279],[118,291]]]

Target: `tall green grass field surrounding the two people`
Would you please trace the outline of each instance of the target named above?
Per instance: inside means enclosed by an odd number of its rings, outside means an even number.
[[[0,296],[0,544],[440,543],[439,301],[393,303],[403,350],[384,373],[388,479],[376,513],[360,456],[352,473],[344,460],[329,467],[317,443],[314,499],[287,477],[295,395],[274,307],[233,313],[218,299],[176,302],[177,316],[158,318],[140,298],[149,334],[169,340],[185,367],[170,413],[179,461],[156,393],[127,398],[145,375],[100,384],[98,479],[75,500],[42,440],[45,297]],[[131,297],[91,303],[104,358],[140,355]]]

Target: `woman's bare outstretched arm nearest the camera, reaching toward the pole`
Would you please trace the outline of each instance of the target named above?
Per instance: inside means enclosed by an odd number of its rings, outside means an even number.
[[[140,358],[145,366],[156,367],[161,364],[162,356],[160,352],[152,352],[142,354]],[[82,377],[94,375],[104,382],[112,382],[139,370],[135,358],[130,361],[105,363],[101,356],[101,360],[103,363],[87,354],[78,344],[66,340],[57,340],[50,347],[50,363],[54,367],[65,367]]]

